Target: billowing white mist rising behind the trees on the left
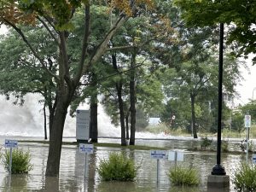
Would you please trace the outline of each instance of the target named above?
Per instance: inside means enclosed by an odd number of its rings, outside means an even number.
[[[28,94],[25,96],[24,104],[17,106],[13,104],[14,99],[7,101],[4,96],[0,96],[0,135],[44,137],[44,106],[38,102],[41,99],[41,96]],[[89,109],[89,105],[85,104],[79,109]],[[111,124],[102,105],[99,105],[98,108],[98,127],[100,137],[120,137],[119,127],[114,127]],[[63,135],[64,137],[75,137],[75,134],[76,119],[67,114]]]

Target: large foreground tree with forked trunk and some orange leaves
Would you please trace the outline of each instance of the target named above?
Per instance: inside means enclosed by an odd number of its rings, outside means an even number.
[[[37,58],[41,67],[54,79],[55,83],[55,113],[53,115],[53,125],[49,131],[49,156],[47,161],[46,175],[57,176],[60,168],[61,159],[61,143],[62,133],[67,115],[67,108],[73,101],[78,89],[81,89],[80,80],[82,77],[86,79],[86,75],[90,72],[90,67],[99,61],[108,49],[108,43],[113,34],[122,26],[126,20],[133,15],[134,8],[137,3],[145,3],[146,1],[131,1],[123,3],[113,1],[115,13],[117,15],[113,26],[109,26],[108,32],[104,37],[98,39],[97,44],[92,47],[90,44],[90,9],[93,6],[89,1],[1,1],[0,3],[0,22],[15,29],[20,34],[25,44],[31,49],[33,55]],[[81,51],[77,55],[73,55],[77,61],[70,60],[72,53],[68,49],[68,40],[72,38],[73,17],[79,12],[79,8],[84,10],[84,34],[79,36],[82,44]],[[38,24],[37,21],[40,23]],[[40,50],[33,47],[26,35],[22,32],[18,24],[40,25],[44,27],[55,42],[58,49],[57,71],[51,72],[45,65],[44,59],[38,54]]]

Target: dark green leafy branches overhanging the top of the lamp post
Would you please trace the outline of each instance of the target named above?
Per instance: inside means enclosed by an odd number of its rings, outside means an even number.
[[[176,0],[188,26],[213,26],[226,23],[229,27],[228,43],[238,43],[238,55],[255,54],[256,2],[254,0]],[[256,62],[256,57],[253,58]]]

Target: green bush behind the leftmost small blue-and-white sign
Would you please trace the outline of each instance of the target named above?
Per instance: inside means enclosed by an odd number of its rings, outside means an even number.
[[[31,154],[29,151],[15,148],[12,152],[12,174],[27,173],[32,170],[30,164]],[[2,159],[5,170],[9,171],[9,151],[5,150]]]

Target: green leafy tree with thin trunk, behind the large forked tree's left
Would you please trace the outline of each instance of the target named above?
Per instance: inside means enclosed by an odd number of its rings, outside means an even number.
[[[44,28],[22,28],[26,38],[33,40],[35,49],[41,49],[40,56],[44,58],[45,66],[49,71],[56,70],[56,49],[49,34]],[[49,108],[49,130],[51,130],[53,114],[55,111],[55,84],[49,74],[44,71],[30,49],[20,39],[14,30],[8,36],[0,37],[0,90],[7,99],[10,95],[16,98],[15,104],[23,104],[26,93],[38,93],[44,97],[44,138],[47,139],[46,109]],[[44,51],[43,51],[44,49]],[[20,100],[20,102],[19,102]]]

